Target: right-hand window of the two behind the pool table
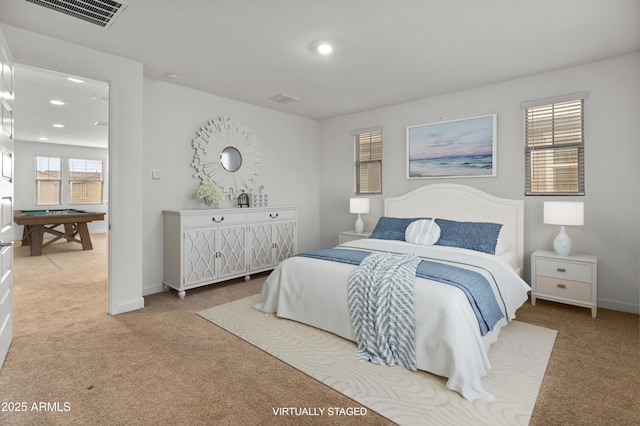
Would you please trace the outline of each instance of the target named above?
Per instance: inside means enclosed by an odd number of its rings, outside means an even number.
[[[70,204],[102,202],[102,161],[69,159]]]

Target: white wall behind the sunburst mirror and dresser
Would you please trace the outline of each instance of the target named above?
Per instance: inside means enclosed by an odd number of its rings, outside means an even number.
[[[201,183],[191,166],[196,131],[208,120],[231,117],[256,137],[262,165],[254,190],[264,185],[269,205],[298,207],[298,249],[319,238],[319,123],[155,80],[144,82],[143,294],[162,291],[163,209],[195,209]],[[151,171],[161,170],[162,180]],[[221,207],[236,206],[226,200]]]

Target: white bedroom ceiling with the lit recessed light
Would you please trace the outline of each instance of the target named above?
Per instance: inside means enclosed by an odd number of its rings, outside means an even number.
[[[130,0],[108,28],[26,0],[0,11],[148,78],[316,120],[640,50],[640,0]],[[313,53],[319,40],[333,54]],[[269,99],[281,93],[299,100]]]

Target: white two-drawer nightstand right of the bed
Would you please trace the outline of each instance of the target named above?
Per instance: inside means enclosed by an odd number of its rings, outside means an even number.
[[[598,258],[584,254],[558,256],[536,250],[531,254],[531,304],[536,299],[551,300],[598,309]]]

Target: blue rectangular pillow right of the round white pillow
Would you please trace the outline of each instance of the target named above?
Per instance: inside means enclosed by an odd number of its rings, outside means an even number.
[[[496,254],[501,224],[488,222],[456,222],[436,219],[440,226],[440,238],[436,245],[466,248]]]

